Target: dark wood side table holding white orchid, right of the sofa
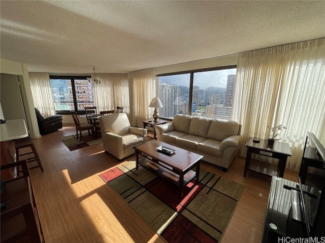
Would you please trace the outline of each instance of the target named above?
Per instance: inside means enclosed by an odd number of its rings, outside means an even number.
[[[246,145],[246,162],[244,177],[247,171],[255,171],[268,176],[278,176],[283,178],[286,159],[291,156],[289,144],[275,141],[273,145],[268,145],[268,140],[261,139],[259,143],[254,143],[253,138],[249,138]],[[252,159],[252,154],[259,154],[267,157],[279,159],[278,165],[264,161]]]

